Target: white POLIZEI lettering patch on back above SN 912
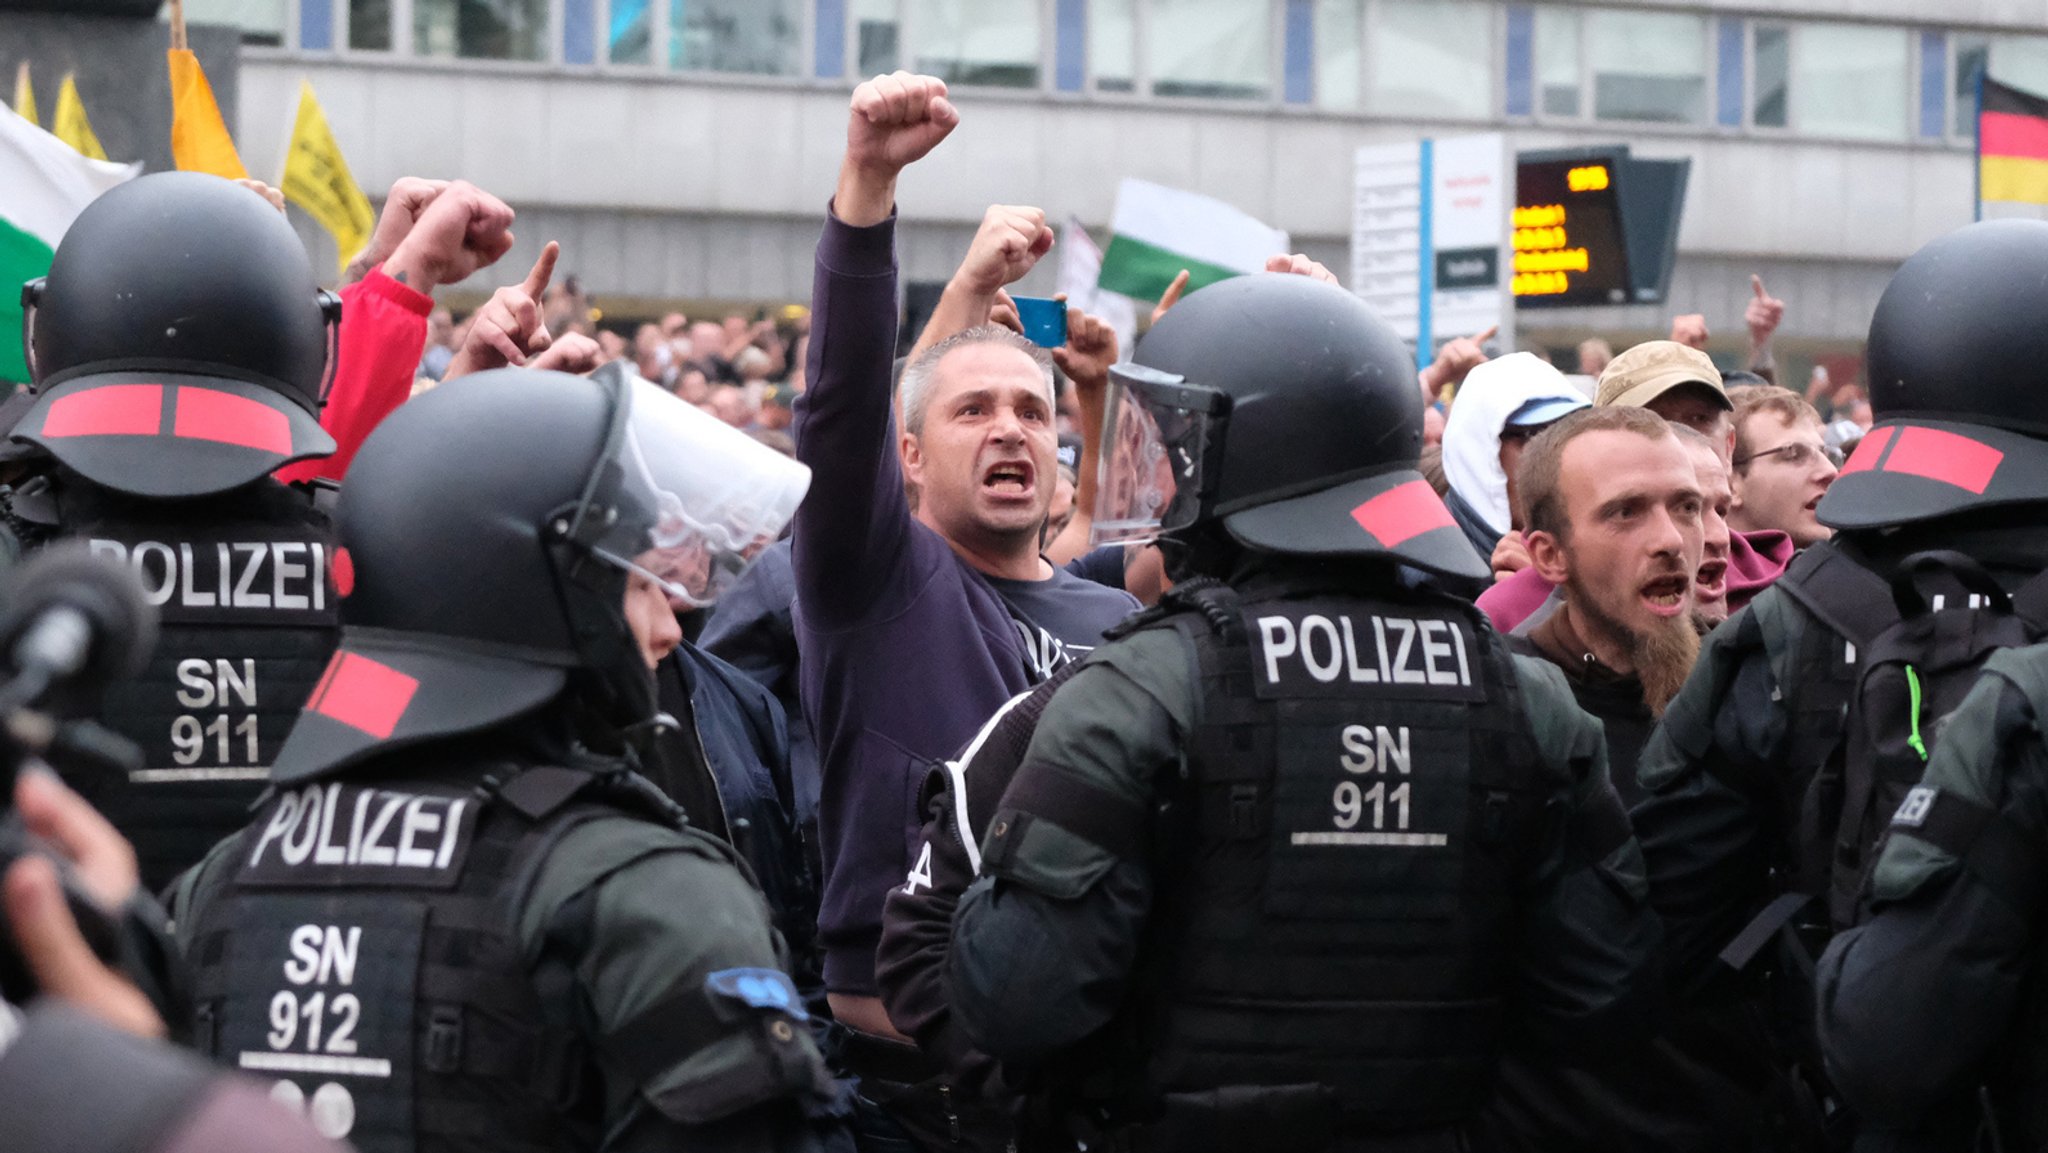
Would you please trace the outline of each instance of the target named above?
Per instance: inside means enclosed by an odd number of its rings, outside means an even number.
[[[287,866],[446,868],[467,807],[469,797],[309,784],[279,799],[250,868],[272,846]]]

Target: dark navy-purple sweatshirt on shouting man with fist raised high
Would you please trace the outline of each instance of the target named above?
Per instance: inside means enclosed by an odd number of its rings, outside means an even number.
[[[797,510],[797,647],[803,711],[817,735],[817,917],[825,987],[874,995],[883,899],[909,874],[926,770],[958,752],[1044,672],[995,588],[903,500],[891,403],[895,217],[825,219],[811,289],[809,391],[797,401],[797,459],[811,492]],[[1071,641],[1085,649],[1137,600],[1071,573]],[[1090,623],[1075,629],[1071,616]],[[1051,625],[1040,621],[1040,625]],[[1092,633],[1077,637],[1075,633]]]

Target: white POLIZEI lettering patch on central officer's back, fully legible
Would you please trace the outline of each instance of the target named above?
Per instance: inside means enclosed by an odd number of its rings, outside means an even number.
[[[1415,684],[1470,688],[1468,639],[1456,621],[1409,616],[1257,616],[1260,668],[1268,686]]]

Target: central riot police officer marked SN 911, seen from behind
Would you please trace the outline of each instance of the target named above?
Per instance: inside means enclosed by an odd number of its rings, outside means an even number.
[[[1087,1147],[1462,1149],[1503,1047],[1634,1034],[1657,932],[1599,725],[1421,575],[1485,563],[1413,375],[1272,274],[1112,371],[1096,524],[1149,520],[1178,584],[1047,702],[948,958]]]

